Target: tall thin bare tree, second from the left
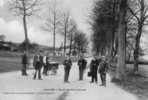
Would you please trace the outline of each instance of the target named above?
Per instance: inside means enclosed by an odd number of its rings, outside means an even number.
[[[61,11],[58,8],[57,1],[49,2],[49,10],[48,16],[43,30],[53,33],[53,54],[55,55],[55,47],[56,47],[56,33],[59,31],[59,26],[61,25]]]

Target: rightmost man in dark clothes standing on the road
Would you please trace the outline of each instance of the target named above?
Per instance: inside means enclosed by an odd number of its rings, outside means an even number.
[[[106,86],[106,73],[107,73],[107,70],[108,70],[108,63],[107,63],[106,60],[107,59],[103,56],[102,61],[101,61],[100,66],[99,66],[99,73],[100,73],[100,78],[101,78],[101,81],[102,81],[101,86]]]

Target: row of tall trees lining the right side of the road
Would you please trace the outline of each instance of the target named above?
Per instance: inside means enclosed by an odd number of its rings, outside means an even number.
[[[138,72],[140,39],[147,24],[146,0],[97,0],[91,16],[93,50],[117,58],[117,79],[125,78],[126,56],[132,55]],[[132,53],[132,54],[131,54]]]

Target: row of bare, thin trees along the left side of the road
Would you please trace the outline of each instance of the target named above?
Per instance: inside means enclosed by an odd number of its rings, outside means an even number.
[[[25,33],[25,43],[26,51],[28,51],[28,28],[27,28],[27,18],[34,15],[36,12],[39,12],[41,9],[42,2],[40,0],[11,0],[10,8],[17,16],[21,16],[23,20],[23,27]],[[82,48],[86,46],[87,39],[84,33],[78,30],[77,25],[73,18],[70,15],[68,10],[61,10],[58,6],[57,0],[49,0],[48,2],[48,11],[46,11],[46,20],[44,25],[41,25],[41,28],[44,31],[53,34],[53,53],[55,54],[56,50],[56,35],[60,33],[64,36],[64,55],[66,54],[66,46],[70,45],[70,53],[72,46],[75,44],[75,48],[79,49],[78,51],[84,51]],[[45,15],[46,15],[45,14]],[[81,39],[78,39],[80,38]],[[69,41],[68,41],[69,40]],[[85,40],[85,42],[83,42]],[[67,42],[68,41],[68,42]],[[79,42],[82,43],[79,43]],[[68,44],[69,43],[69,44]]]

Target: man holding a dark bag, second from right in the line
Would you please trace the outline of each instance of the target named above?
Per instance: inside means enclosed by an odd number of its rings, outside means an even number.
[[[98,75],[97,75],[97,71],[98,71],[98,66],[100,63],[100,59],[97,59],[97,56],[94,56],[94,58],[92,59],[91,63],[90,63],[90,72],[91,72],[91,83],[93,83],[94,81],[97,83],[98,82]]]

